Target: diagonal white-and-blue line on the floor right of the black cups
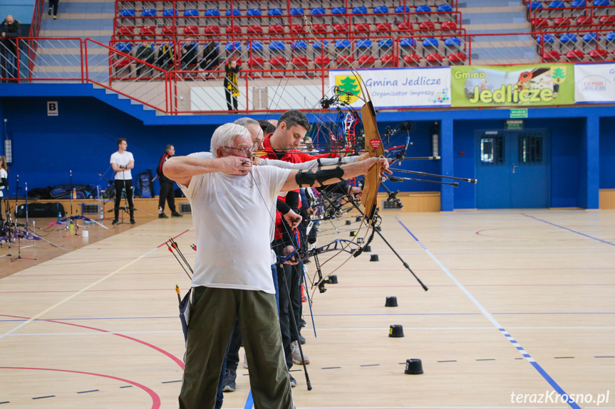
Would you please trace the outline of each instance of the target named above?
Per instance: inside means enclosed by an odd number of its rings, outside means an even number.
[[[445,272],[446,275],[448,275],[448,277],[450,278],[450,280],[453,280],[453,282],[455,282],[455,284],[459,287],[459,289],[468,297],[470,298],[470,301],[472,301],[475,306],[480,309],[480,311],[482,312],[483,315],[485,315],[485,317],[487,319],[489,319],[489,321],[504,335],[506,336],[506,338],[508,339],[508,341],[510,341],[510,343],[512,344],[512,346],[515,346],[515,348],[517,349],[517,351],[520,352],[520,354],[525,358],[526,361],[528,361],[529,363],[532,364],[532,366],[534,367],[534,369],[536,369],[536,371],[538,371],[538,373],[540,373],[540,375],[542,376],[542,378],[544,378],[545,381],[547,381],[549,383],[549,385],[552,386],[552,388],[554,389],[554,391],[556,391],[557,393],[559,393],[560,396],[564,396],[566,395],[566,397],[568,397],[569,395],[564,392],[564,389],[562,389],[561,386],[559,386],[557,384],[557,382],[554,381],[554,379],[549,376],[549,374],[547,373],[547,371],[544,371],[544,369],[542,368],[542,366],[540,366],[535,360],[534,358],[532,358],[532,356],[530,356],[527,351],[525,351],[525,349],[515,340],[512,338],[512,335],[510,335],[502,325],[500,325],[499,322],[497,322],[495,320],[495,318],[493,318],[492,314],[490,314],[489,312],[487,312],[487,309],[485,309],[485,307],[482,307],[482,304],[480,304],[480,302],[478,302],[477,299],[475,299],[475,297],[470,294],[470,292],[459,282],[459,280],[457,280],[457,278],[455,278],[455,276],[448,271],[448,269],[442,264],[442,262],[440,262],[440,260],[438,260],[437,257],[435,257],[435,255],[433,255],[433,253],[430,252],[430,250],[428,250],[428,248],[425,247],[425,245],[423,245],[423,243],[420,242],[420,240],[418,240],[418,238],[416,238],[415,235],[412,234],[412,232],[410,232],[410,230],[405,227],[405,225],[398,219],[396,218],[397,221],[399,222],[400,225],[403,226],[403,228],[405,228],[405,231],[407,231],[408,233],[410,233],[410,235],[412,235],[412,237],[414,238],[414,240],[416,240],[416,242],[420,245],[421,248],[423,248],[423,250],[425,250],[425,253],[427,253],[431,259],[442,269],[443,272]],[[577,403],[574,402],[569,402],[568,400],[566,400],[566,403],[572,408],[572,409],[581,409],[581,407],[579,405],[577,405]]]

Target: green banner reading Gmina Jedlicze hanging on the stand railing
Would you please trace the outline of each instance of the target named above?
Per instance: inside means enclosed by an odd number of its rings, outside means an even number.
[[[453,107],[574,104],[573,64],[451,67]]]

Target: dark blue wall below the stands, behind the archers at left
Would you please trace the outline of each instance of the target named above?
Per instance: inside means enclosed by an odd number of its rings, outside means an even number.
[[[58,117],[47,116],[48,100],[58,101]],[[1,106],[13,139],[11,195],[18,174],[20,185],[27,182],[29,189],[68,184],[70,170],[75,184],[106,186],[98,174],[113,179],[109,159],[118,150],[120,137],[128,140],[128,151],[135,156],[133,178],[148,168],[155,174],[166,144],[175,144],[178,155],[206,151],[215,129],[212,125],[146,127],[91,97],[5,98]]]

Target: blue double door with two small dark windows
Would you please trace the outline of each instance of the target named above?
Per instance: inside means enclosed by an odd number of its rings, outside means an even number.
[[[546,129],[481,131],[476,137],[477,208],[549,207]]]

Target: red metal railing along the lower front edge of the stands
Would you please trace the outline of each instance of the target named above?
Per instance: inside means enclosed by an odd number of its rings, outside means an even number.
[[[517,65],[615,61],[615,33],[604,29],[372,38],[207,38],[132,40],[104,45],[80,38],[19,38],[20,52],[0,80],[16,83],[91,83],[168,115],[228,112],[224,65],[241,61],[241,112],[311,110],[329,95],[329,70],[443,65]],[[160,53],[165,45],[171,53]],[[189,53],[189,47],[195,52]],[[182,52],[186,49],[186,52]],[[149,51],[148,51],[149,50]],[[215,50],[215,51],[214,51]],[[600,50],[600,51],[598,51]],[[6,51],[6,50],[5,50]],[[207,51],[207,52],[204,52]],[[215,53],[212,62],[209,53]],[[6,61],[6,60],[5,60]],[[6,67],[5,67],[6,68]]]

